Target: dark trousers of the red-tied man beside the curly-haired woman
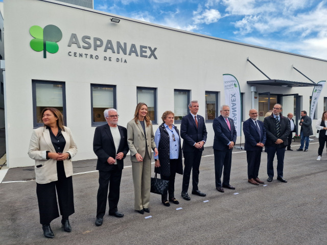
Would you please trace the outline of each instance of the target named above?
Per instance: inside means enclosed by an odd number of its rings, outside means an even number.
[[[188,192],[191,170],[192,170],[192,185],[193,190],[198,190],[199,184],[199,167],[201,162],[202,151],[195,150],[194,152],[183,152],[184,155],[184,174],[183,174],[183,184],[182,191]]]

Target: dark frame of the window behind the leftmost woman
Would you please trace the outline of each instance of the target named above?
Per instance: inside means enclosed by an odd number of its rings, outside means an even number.
[[[48,80],[32,80],[32,100],[33,100],[33,128],[42,127],[44,124],[36,122],[36,84],[56,84],[62,86],[62,115],[63,115],[63,124],[67,125],[66,120],[66,86],[65,82],[59,81],[48,81]]]

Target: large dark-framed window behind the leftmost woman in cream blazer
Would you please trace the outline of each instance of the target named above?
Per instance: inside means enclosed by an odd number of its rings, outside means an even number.
[[[46,107],[58,109],[66,125],[66,97],[64,82],[32,80],[33,127],[43,126],[41,112]]]

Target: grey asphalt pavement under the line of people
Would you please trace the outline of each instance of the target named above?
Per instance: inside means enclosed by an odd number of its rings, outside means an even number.
[[[236,190],[215,188],[214,155],[205,148],[199,189],[206,197],[180,197],[182,176],[176,175],[175,197],[180,204],[166,207],[151,193],[150,213],[133,209],[131,162],[125,160],[119,211],[123,218],[105,215],[95,226],[98,172],[96,160],[75,161],[75,213],[69,217],[72,232],[53,220],[54,239],[43,236],[39,224],[34,167],[10,168],[0,184],[0,244],[327,244],[327,155],[316,161],[318,143],[308,152],[286,151],[282,183],[266,181],[267,156],[262,154],[259,178],[264,185],[247,182],[244,150],[233,150],[230,184]],[[154,169],[154,164],[152,164]],[[276,175],[276,159],[274,162]],[[152,174],[154,176],[154,174]],[[192,184],[190,185],[192,188]],[[178,209],[178,210],[177,210]],[[150,217],[149,217],[150,216]]]

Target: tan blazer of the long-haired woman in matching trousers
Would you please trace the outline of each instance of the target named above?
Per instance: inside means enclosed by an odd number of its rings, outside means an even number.
[[[145,122],[145,121],[144,121]],[[147,126],[145,122],[145,133],[141,126],[141,122],[137,120],[137,124],[135,120],[131,120],[127,124],[127,143],[129,147],[129,151],[131,153],[131,161],[137,162],[135,154],[140,154],[143,158],[145,156],[146,145],[148,148],[149,157],[151,159],[151,149],[156,148],[154,143],[154,133],[152,128],[152,123],[150,121],[150,125]]]

